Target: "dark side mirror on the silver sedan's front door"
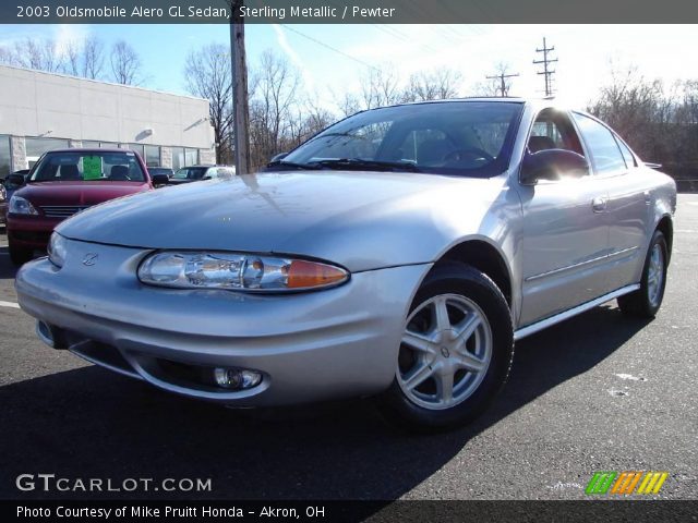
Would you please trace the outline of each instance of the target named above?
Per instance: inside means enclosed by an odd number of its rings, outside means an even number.
[[[587,159],[567,149],[543,149],[526,154],[519,180],[522,185],[535,185],[539,180],[581,178],[589,174]]]

